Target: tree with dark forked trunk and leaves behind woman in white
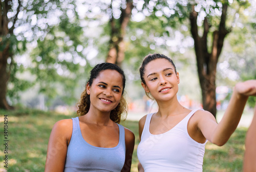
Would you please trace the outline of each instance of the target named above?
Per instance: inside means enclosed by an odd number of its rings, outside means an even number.
[[[216,117],[217,63],[222,52],[224,39],[232,28],[232,23],[230,27],[226,27],[226,22],[232,22],[232,17],[239,14],[240,8],[248,7],[248,2],[237,1],[233,4],[229,4],[227,1],[215,0],[144,2],[143,10],[147,9],[150,17],[159,18],[162,21],[167,20],[167,22],[163,22],[163,27],[169,25],[177,29],[177,26],[179,26],[177,22],[189,26],[194,39],[203,108]],[[228,13],[228,8],[237,8],[237,10],[235,12],[230,10]]]

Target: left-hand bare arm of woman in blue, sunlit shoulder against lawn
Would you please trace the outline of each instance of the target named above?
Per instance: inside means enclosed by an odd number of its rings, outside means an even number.
[[[45,172],[64,171],[72,128],[72,119],[57,121],[53,126],[48,143]]]

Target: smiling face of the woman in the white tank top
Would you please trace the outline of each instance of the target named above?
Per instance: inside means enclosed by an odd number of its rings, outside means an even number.
[[[179,73],[166,59],[156,59],[145,66],[145,72],[141,83],[146,92],[151,93],[156,101],[167,101],[176,97],[178,84],[180,83]]]

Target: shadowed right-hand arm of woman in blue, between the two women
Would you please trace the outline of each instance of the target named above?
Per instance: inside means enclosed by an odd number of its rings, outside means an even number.
[[[135,135],[129,129],[124,128],[125,130],[125,146],[126,146],[126,153],[125,153],[125,162],[121,172],[130,172],[131,165],[133,160],[133,150],[135,144]]]

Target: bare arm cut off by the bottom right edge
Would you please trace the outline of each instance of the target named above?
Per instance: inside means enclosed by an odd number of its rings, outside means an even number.
[[[245,138],[244,172],[256,171],[256,106]]]

